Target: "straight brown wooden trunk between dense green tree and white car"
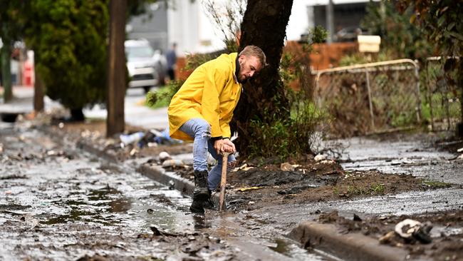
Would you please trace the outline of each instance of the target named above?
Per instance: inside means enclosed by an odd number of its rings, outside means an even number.
[[[110,1],[110,41],[108,51],[108,118],[106,136],[112,137],[125,128],[125,14],[127,0]]]

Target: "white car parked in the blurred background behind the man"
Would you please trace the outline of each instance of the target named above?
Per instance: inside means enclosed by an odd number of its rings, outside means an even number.
[[[125,57],[129,71],[129,88],[144,88],[150,91],[152,86],[164,83],[165,58],[159,51],[153,50],[145,39],[125,41]]]

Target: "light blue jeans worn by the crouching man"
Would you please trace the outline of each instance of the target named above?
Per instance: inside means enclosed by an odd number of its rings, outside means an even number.
[[[211,126],[202,118],[193,118],[180,127],[180,131],[187,133],[192,138],[193,142],[193,170],[207,170],[207,155],[208,151],[212,157],[217,160],[217,165],[209,171],[207,176],[207,186],[209,190],[215,190],[222,178],[222,155],[217,155],[214,149],[214,143],[211,140]],[[234,165],[236,161],[233,154],[228,156],[227,173],[232,169],[230,165]],[[230,164],[231,163],[231,164]]]

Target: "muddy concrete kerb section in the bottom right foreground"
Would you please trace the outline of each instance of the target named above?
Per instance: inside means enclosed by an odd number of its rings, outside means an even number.
[[[339,257],[342,260],[407,260],[408,252],[399,247],[380,245],[378,240],[360,233],[340,234],[331,224],[301,222],[288,237],[300,242],[303,247],[314,247]]]

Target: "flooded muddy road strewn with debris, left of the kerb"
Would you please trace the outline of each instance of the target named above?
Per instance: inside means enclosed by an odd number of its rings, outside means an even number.
[[[129,163],[28,127],[0,126],[0,260],[327,260],[253,215],[191,215]]]

